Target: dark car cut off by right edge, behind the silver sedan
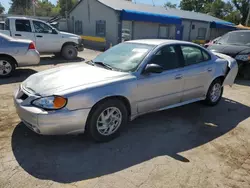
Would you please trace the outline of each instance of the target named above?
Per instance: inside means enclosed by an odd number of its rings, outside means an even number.
[[[239,65],[239,74],[250,79],[250,31],[232,31],[223,35],[208,47],[209,50],[235,58]]]

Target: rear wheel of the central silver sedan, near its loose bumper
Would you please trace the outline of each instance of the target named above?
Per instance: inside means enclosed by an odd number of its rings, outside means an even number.
[[[219,88],[218,88],[219,87]],[[218,89],[217,91],[216,88]],[[215,106],[217,105],[221,98],[222,98],[222,95],[223,95],[223,86],[222,86],[222,81],[221,79],[215,79],[209,89],[208,89],[208,92],[207,92],[207,95],[206,95],[206,99],[205,99],[205,104],[206,105],[209,105],[209,106]]]

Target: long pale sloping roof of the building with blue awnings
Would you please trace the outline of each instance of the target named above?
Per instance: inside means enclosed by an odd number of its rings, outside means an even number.
[[[152,6],[147,4],[136,4],[126,0],[98,0],[100,3],[118,11],[122,10],[134,10],[140,12],[148,12],[155,14],[167,14],[169,16],[178,16],[183,19],[206,21],[206,22],[225,22],[219,18],[210,16],[208,14],[185,11],[174,8],[165,8],[162,6]]]

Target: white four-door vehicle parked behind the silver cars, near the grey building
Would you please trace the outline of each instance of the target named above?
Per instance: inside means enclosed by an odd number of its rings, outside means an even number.
[[[65,59],[75,59],[78,51],[84,49],[80,36],[58,31],[46,22],[31,18],[9,17],[5,20],[5,30],[0,33],[32,40],[40,53],[54,53]]]

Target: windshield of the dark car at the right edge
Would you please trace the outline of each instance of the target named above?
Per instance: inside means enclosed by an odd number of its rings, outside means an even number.
[[[232,32],[222,36],[216,43],[250,45],[250,32]]]

